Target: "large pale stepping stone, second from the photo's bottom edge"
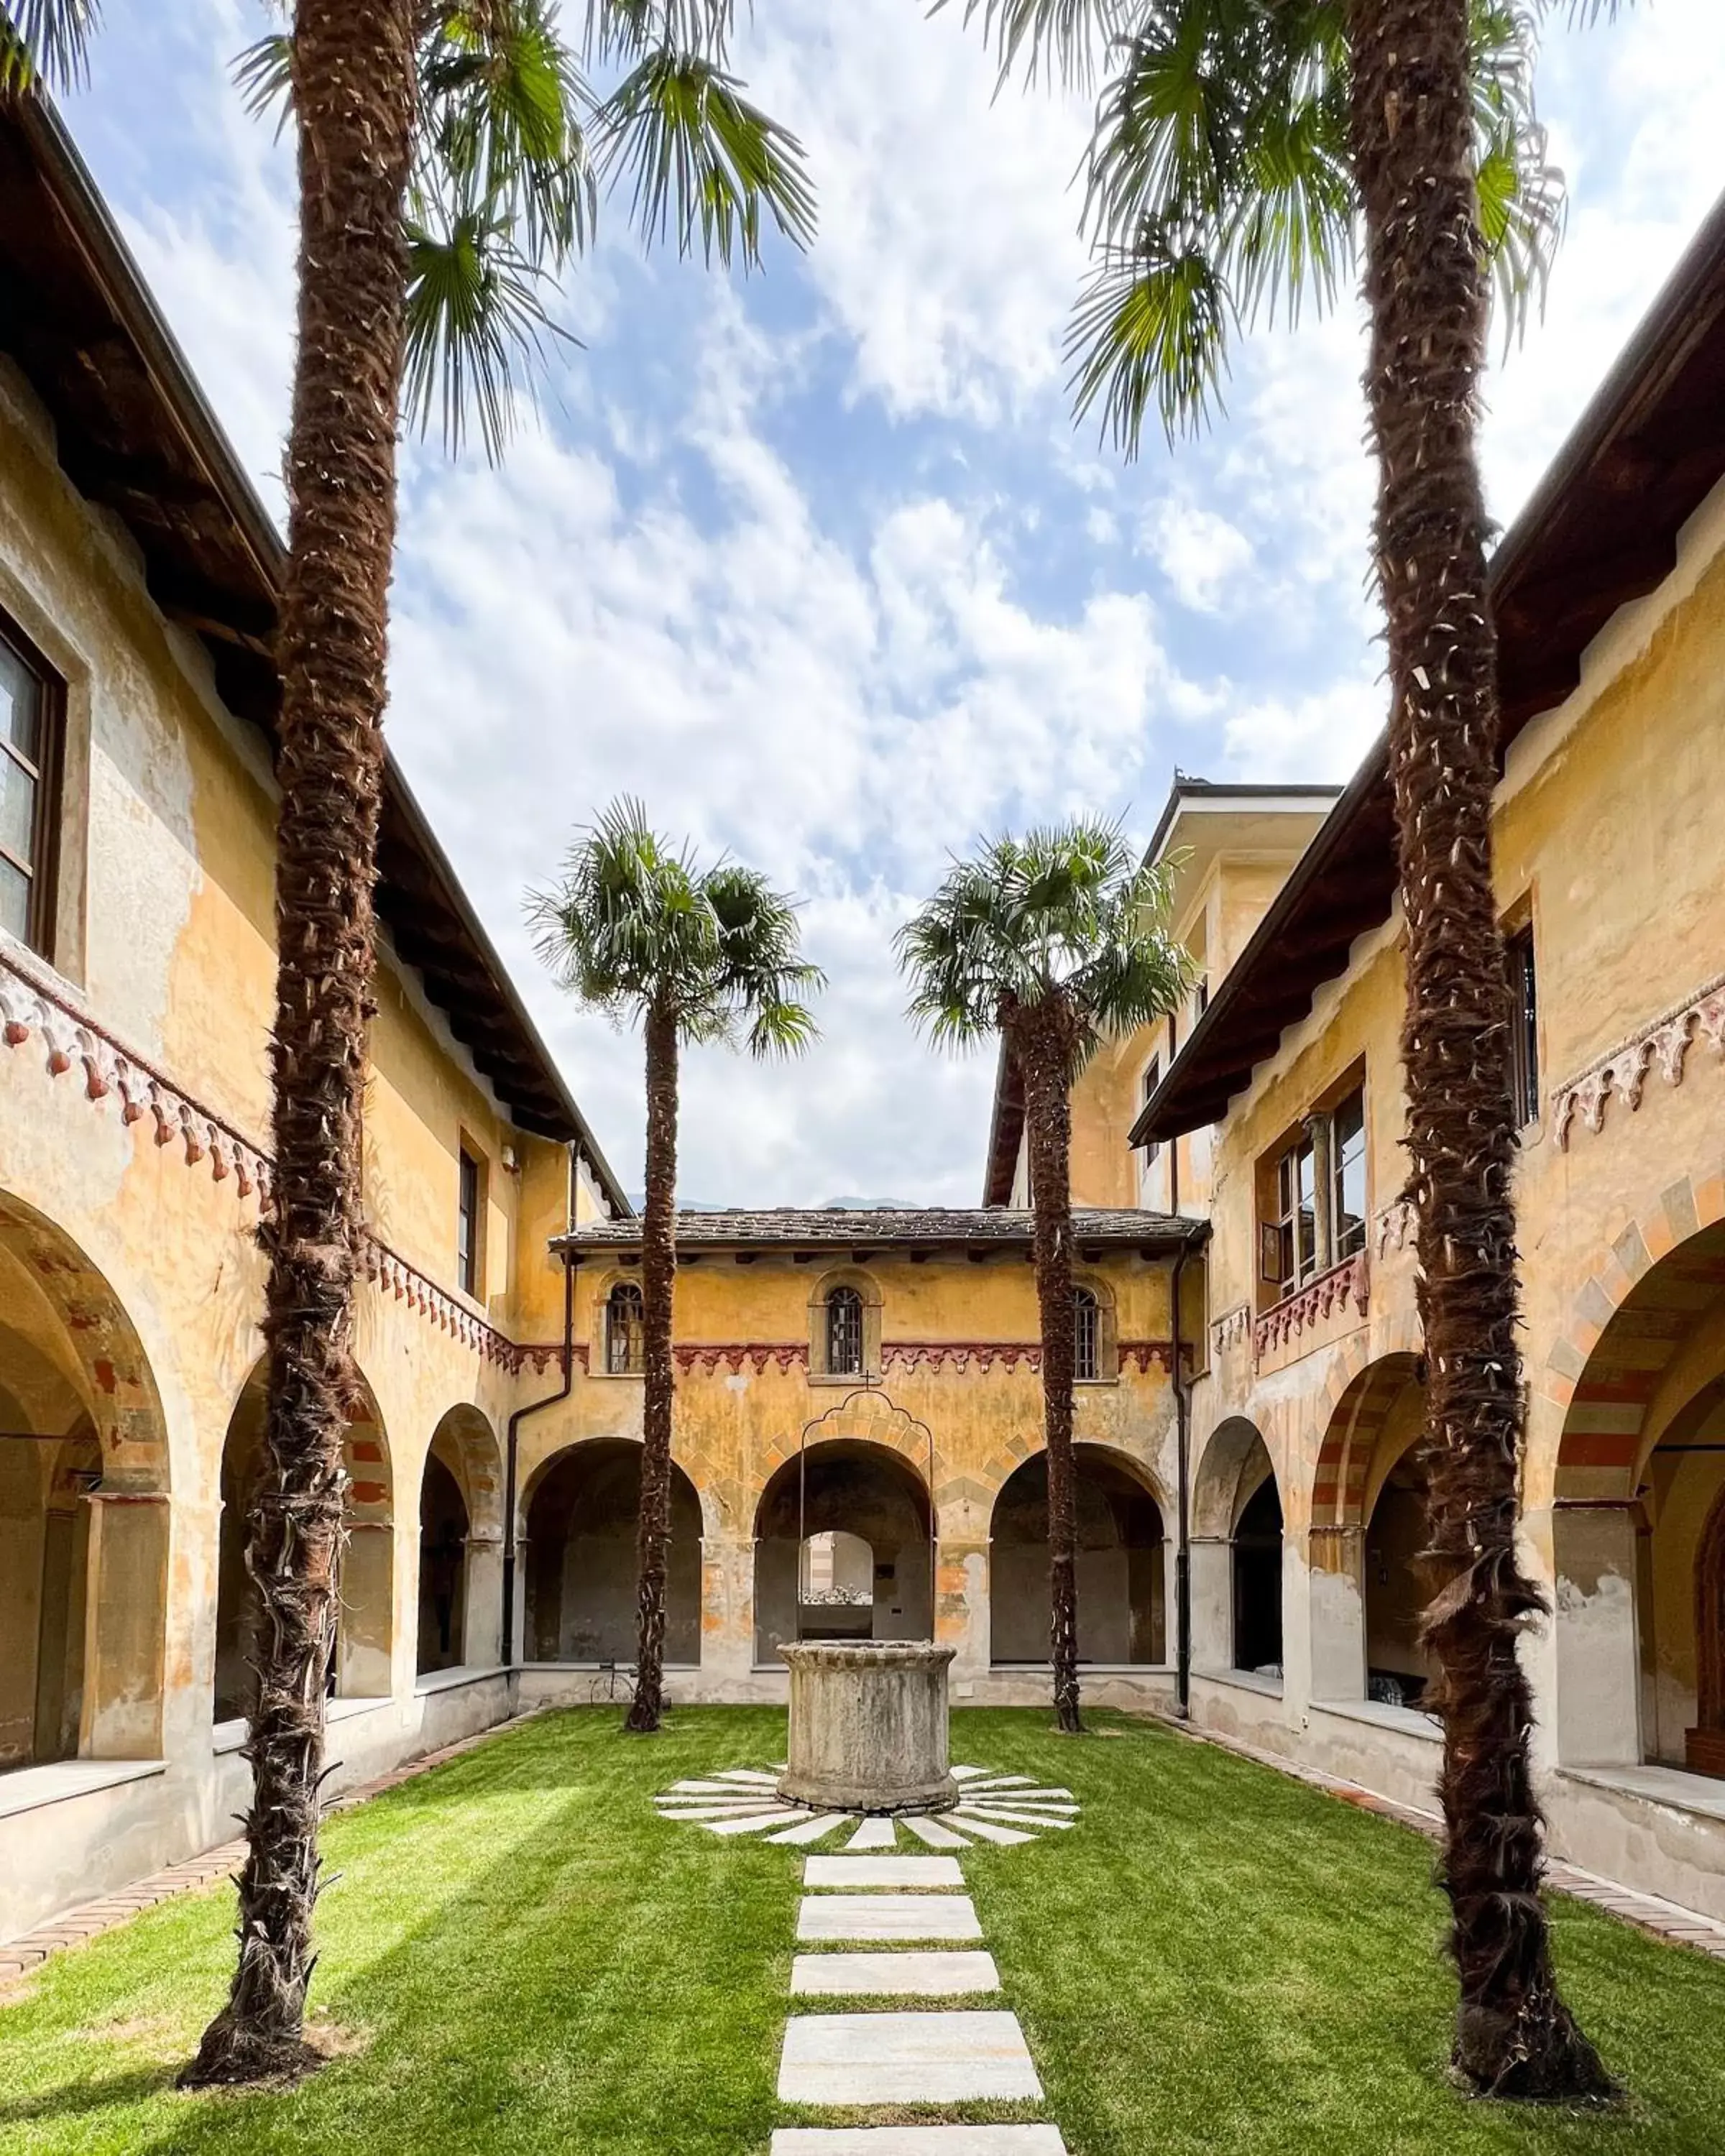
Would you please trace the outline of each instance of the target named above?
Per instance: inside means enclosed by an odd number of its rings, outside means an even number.
[[[979,2104],[1041,2096],[1016,2014],[798,2014],[781,2104]]]

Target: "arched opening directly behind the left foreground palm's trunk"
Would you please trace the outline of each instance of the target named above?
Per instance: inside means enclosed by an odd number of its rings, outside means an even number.
[[[235,1395],[222,1438],[216,1539],[213,1716],[239,1720],[250,1703],[257,1613],[246,1576],[246,1518],[263,1473],[267,1356]],[[341,1613],[330,1692],[339,1699],[388,1699],[395,1690],[395,1473],[384,1419],[371,1384],[356,1369],[341,1464],[345,1477]]]

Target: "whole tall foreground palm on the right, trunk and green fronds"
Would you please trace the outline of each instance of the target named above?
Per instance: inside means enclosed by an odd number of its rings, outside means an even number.
[[[1205,416],[1242,326],[1302,298],[1330,304],[1365,239],[1374,571],[1408,923],[1408,1194],[1432,1373],[1425,1639],[1443,1671],[1453,2063],[1484,2093],[1602,2098],[1611,2081],[1559,1996],[1540,1904],[1518,1660],[1544,1598],[1516,1554],[1516,1128],[1477,446],[1492,276],[1514,321],[1561,220],[1531,86],[1537,19],[1557,0],[962,4],[1003,71],[1074,78],[1106,54],[1087,201],[1098,267],[1070,354],[1078,412],[1100,407],[1128,455],[1147,412],[1169,436]],[[1574,0],[1570,13],[1609,4]]]

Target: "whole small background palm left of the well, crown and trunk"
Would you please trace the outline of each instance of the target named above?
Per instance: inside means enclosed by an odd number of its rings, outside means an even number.
[[[671,1546],[671,1416],[677,1373],[677,1087],[684,1046],[742,1041],[753,1056],[815,1039],[806,994],[826,985],[800,957],[796,908],[753,869],[696,867],[666,845],[640,802],[612,802],[576,837],[563,875],[533,893],[539,955],[561,985],[647,1041],[647,1207],[640,1222],[643,1447],[636,1529],[636,1688],[625,1729],[664,1716],[664,1578]]]

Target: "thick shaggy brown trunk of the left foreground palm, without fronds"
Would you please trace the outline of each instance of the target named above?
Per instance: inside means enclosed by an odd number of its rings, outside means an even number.
[[[239,1968],[188,2085],[304,2063],[323,1692],[354,1399],[360,1102],[384,770],[414,0],[298,0],[300,351],[287,444],[270,1408],[246,1563],[259,1690]]]

